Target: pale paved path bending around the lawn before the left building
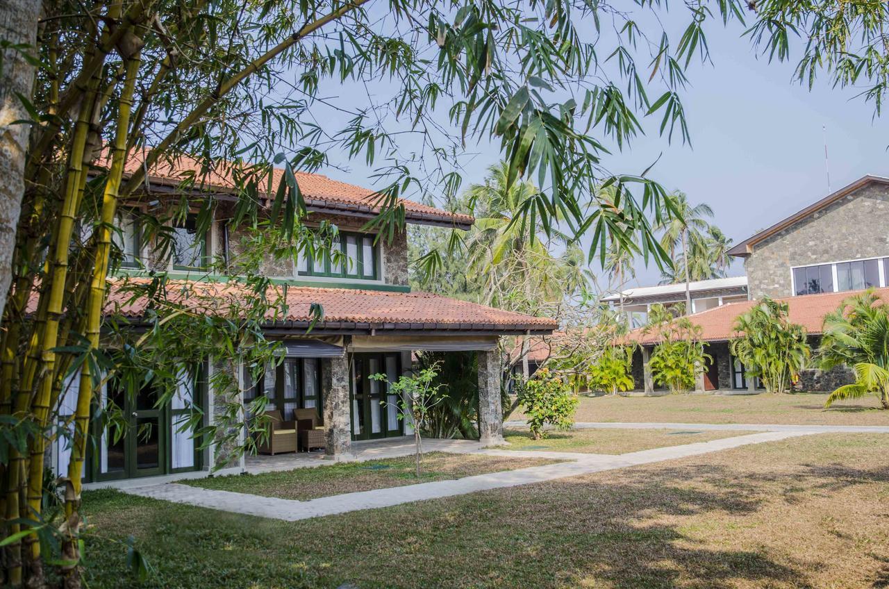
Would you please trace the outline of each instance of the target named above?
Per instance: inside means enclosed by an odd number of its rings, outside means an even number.
[[[584,425],[580,426],[584,427]],[[588,424],[587,426],[591,425]],[[608,424],[607,426],[612,427],[613,425]],[[630,427],[629,424],[624,424],[624,426]],[[659,427],[663,426],[663,424],[659,425]],[[700,424],[695,424],[695,427],[697,429],[702,429]],[[732,427],[733,429],[737,429],[735,426]],[[680,429],[686,429],[686,425],[681,424]],[[889,430],[889,428],[886,429]],[[697,456],[709,452],[716,452],[718,450],[738,448],[739,446],[758,444],[767,441],[784,440],[811,433],[816,432],[813,432],[811,429],[800,431],[766,431],[744,436],[735,436],[733,438],[724,438],[722,440],[686,444],[684,446],[653,448],[618,456],[572,452],[488,450],[478,448],[477,443],[474,444],[473,442],[467,441],[460,441],[455,444],[430,443],[427,445],[428,449],[433,449],[429,447],[434,446],[436,449],[444,451],[455,451],[466,454],[485,454],[489,456],[546,457],[549,455],[553,457],[568,457],[573,460],[573,462],[533,466],[515,471],[491,472],[488,474],[464,477],[457,480],[439,480],[436,482],[420,483],[404,487],[380,488],[359,493],[320,497],[309,501],[295,501],[292,499],[279,499],[276,497],[263,497],[244,493],[232,493],[230,491],[195,488],[176,483],[127,488],[124,489],[124,492],[154,499],[164,499],[174,503],[207,507],[225,512],[257,515],[276,520],[296,521],[324,515],[332,515],[334,513],[375,509],[391,505],[411,503],[414,501],[465,495],[493,488],[516,487],[518,485],[563,479],[565,477],[574,477],[589,474],[591,472],[610,471],[618,468],[625,468],[627,466],[635,466],[637,464],[649,464],[674,458]],[[435,441],[455,442],[457,440]],[[474,448],[471,448],[473,446]]]

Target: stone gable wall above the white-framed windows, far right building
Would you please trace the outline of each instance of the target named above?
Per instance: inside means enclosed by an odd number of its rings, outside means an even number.
[[[871,183],[753,246],[751,298],[792,296],[791,268],[889,255],[889,186]]]

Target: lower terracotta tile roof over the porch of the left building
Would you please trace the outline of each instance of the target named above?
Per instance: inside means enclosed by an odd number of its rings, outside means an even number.
[[[144,298],[131,301],[132,292],[124,287],[127,281],[145,284],[148,278],[111,279],[106,310],[138,319],[144,314],[148,301]],[[192,293],[198,295],[192,296]],[[176,303],[204,308],[211,306],[219,311],[227,311],[229,305],[254,295],[249,288],[236,282],[188,280],[169,281],[165,294]],[[284,295],[284,286],[270,286],[267,295],[275,301],[278,296]],[[276,311],[269,311],[269,322],[276,325],[304,325],[312,319],[312,303],[319,303],[324,307],[324,321],[316,325],[316,329],[444,329],[491,333],[532,330],[540,333],[557,327],[557,322],[552,319],[501,311],[428,293],[288,286],[285,297],[286,313],[280,315]]]

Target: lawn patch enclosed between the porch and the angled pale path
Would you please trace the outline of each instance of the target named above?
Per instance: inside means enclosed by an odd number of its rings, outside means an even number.
[[[431,480],[460,479],[485,472],[512,471],[517,468],[557,462],[560,461],[429,452],[423,456],[420,479],[416,476],[413,456],[404,456],[360,463],[328,464],[292,471],[236,474],[179,482],[192,487],[306,501],[316,497],[369,491],[374,488],[401,487]]]

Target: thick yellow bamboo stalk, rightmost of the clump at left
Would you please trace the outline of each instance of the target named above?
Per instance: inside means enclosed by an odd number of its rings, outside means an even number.
[[[111,252],[111,231],[117,214],[117,193],[120,190],[126,162],[127,132],[130,127],[132,112],[132,96],[136,87],[140,60],[138,53],[127,61],[124,89],[121,93],[118,109],[115,141],[111,153],[111,169],[102,196],[100,222],[95,230],[96,254],[92,265],[92,279],[86,302],[86,339],[90,350],[99,347],[102,307],[105,303],[105,286],[108,278],[108,262]],[[65,517],[66,532],[63,554],[67,561],[77,562],[80,554],[77,548],[76,534],[80,528],[80,493],[81,480],[84,472],[86,456],[86,440],[89,428],[90,406],[94,390],[92,362],[84,362],[81,368],[80,383],[77,390],[75,410],[74,447],[68,463],[68,479],[66,480]],[[66,586],[79,585],[76,565],[66,570]]]

